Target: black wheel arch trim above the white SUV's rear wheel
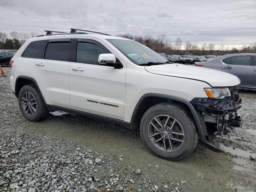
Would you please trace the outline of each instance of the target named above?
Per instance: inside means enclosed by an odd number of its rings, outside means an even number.
[[[44,100],[44,96],[42,95],[42,92],[41,92],[36,80],[34,78],[28,77],[28,76],[20,75],[16,78],[14,90],[15,90],[15,96],[17,98],[19,96],[20,89],[25,85],[34,85],[36,87],[36,89],[38,90],[40,96],[42,97],[44,104],[46,104],[46,102]]]

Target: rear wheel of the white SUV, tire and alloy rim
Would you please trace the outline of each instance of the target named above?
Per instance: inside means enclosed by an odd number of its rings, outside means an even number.
[[[31,102],[28,102],[26,100],[26,97],[30,98]],[[49,114],[49,110],[44,104],[42,97],[40,96],[36,87],[34,87],[33,85],[23,86],[20,89],[18,100],[19,100],[20,111],[22,112],[23,116],[29,121],[42,120],[46,118]],[[36,102],[36,104],[34,102]],[[30,104],[27,105],[25,103],[30,103]],[[31,110],[28,110],[29,107],[31,107]],[[32,107],[33,109],[36,109],[36,110],[33,110]]]

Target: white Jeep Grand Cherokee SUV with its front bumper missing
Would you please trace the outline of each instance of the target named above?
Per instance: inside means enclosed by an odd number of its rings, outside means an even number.
[[[41,35],[10,64],[10,84],[28,120],[62,110],[140,125],[148,149],[168,160],[187,157],[198,140],[210,147],[216,134],[241,126],[236,76],[170,64],[133,40],[74,29]]]

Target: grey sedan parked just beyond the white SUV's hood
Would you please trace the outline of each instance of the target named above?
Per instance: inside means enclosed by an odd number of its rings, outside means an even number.
[[[234,74],[241,80],[239,88],[256,89],[256,54],[229,54],[207,62],[196,63],[195,66]]]

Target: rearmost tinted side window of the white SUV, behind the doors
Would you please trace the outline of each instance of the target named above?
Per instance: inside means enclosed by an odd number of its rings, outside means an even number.
[[[22,57],[41,59],[46,42],[47,40],[30,43],[23,52]]]

